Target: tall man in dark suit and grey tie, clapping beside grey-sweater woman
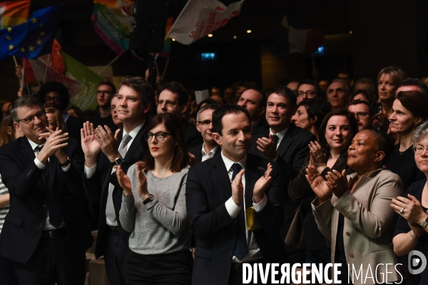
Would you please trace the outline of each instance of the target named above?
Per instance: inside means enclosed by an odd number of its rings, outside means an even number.
[[[119,83],[116,106],[123,130],[117,130],[115,135],[108,127],[93,128],[89,122],[83,124],[85,193],[91,202],[100,202],[95,254],[97,258],[104,256],[108,280],[115,285],[126,284],[129,233],[123,230],[119,220],[123,190],[118,185],[113,166],[121,165],[127,172],[131,165],[142,159],[143,125],[153,105],[150,83],[141,77],[124,77]]]

